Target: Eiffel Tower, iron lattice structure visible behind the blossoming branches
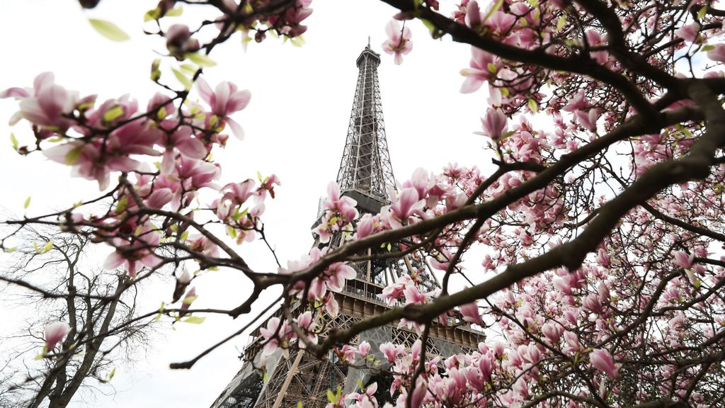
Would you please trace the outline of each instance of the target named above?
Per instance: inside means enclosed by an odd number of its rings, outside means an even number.
[[[355,199],[361,214],[378,213],[383,205],[390,204],[388,190],[395,186],[378,85],[377,68],[380,62],[380,55],[370,49],[368,41],[368,46],[357,57],[359,73],[355,99],[337,174],[341,195]],[[320,224],[323,216],[321,204],[313,229]],[[315,246],[319,247],[319,237],[314,233],[313,236]],[[341,234],[337,234],[328,245],[331,249],[338,248],[342,240]],[[395,246],[405,248],[405,245],[410,246],[410,242],[398,242]],[[375,253],[375,250],[368,250],[367,254]],[[349,327],[364,317],[388,310],[391,306],[381,301],[380,295],[386,285],[403,275],[415,275],[418,282],[428,290],[440,287],[424,256],[419,253],[399,258],[358,261],[349,265],[355,269],[357,277],[348,280],[344,290],[335,294],[339,315],[327,322],[328,330]],[[281,311],[272,316],[281,317]],[[431,325],[426,345],[428,356],[447,357],[471,351],[484,340],[482,332],[473,330],[460,319],[451,320],[451,325]],[[266,322],[260,327],[266,327]],[[259,327],[251,333],[251,337],[252,342],[244,351],[243,367],[212,404],[212,408],[296,408],[299,402],[305,408],[323,408],[328,403],[329,389],[340,387],[344,396],[357,391],[361,384],[366,386],[373,382],[378,383],[376,399],[381,407],[385,401],[394,402],[389,393],[392,378],[381,375],[380,370],[373,372],[347,367],[333,353],[317,359],[304,351],[291,351],[289,357],[285,357],[282,351],[277,350],[265,357],[267,375],[262,378],[259,370],[255,369],[259,367],[264,340]],[[324,333],[320,337],[324,338]],[[418,337],[413,331],[389,325],[360,333],[350,344],[354,346],[363,340],[368,341],[372,346],[371,353],[374,352],[381,359],[379,346],[382,343],[392,341],[410,348]]]

